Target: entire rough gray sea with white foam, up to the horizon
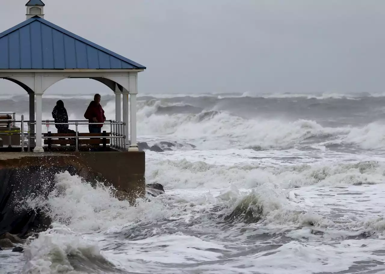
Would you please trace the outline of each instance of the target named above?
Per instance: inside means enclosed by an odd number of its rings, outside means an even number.
[[[92,95],[60,99],[82,119]],[[27,118],[28,96],[0,109]],[[166,194],[132,207],[57,174],[26,200],[53,228],[1,251],[1,273],[385,273],[385,96],[142,95],[137,117],[139,142],[174,144],[146,151]]]

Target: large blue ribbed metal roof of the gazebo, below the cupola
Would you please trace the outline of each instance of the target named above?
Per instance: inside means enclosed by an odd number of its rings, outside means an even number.
[[[0,33],[0,69],[146,69],[34,16]]]

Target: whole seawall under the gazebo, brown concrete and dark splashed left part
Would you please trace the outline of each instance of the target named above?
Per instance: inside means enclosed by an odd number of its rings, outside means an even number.
[[[49,226],[39,209],[18,205],[26,197],[47,197],[59,172],[113,185],[130,202],[144,196],[144,156],[143,152],[0,153],[0,235],[24,236]]]

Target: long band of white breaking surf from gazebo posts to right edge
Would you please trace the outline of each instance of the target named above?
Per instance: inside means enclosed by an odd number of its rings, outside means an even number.
[[[138,132],[141,135],[169,135],[170,139],[194,140],[198,149],[225,149],[233,147],[234,143],[236,147],[256,150],[311,144],[385,149],[385,125],[379,122],[362,127],[325,127],[313,120],[246,119],[216,110],[203,110],[198,114],[163,114],[159,112],[162,108],[167,107],[155,99],[141,105],[138,112]]]

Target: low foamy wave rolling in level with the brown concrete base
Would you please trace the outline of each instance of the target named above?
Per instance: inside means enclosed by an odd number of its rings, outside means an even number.
[[[385,164],[300,164],[283,167],[258,165],[214,165],[203,161],[164,160],[146,169],[148,183],[161,183],[171,189],[221,189],[236,185],[246,189],[277,182],[284,188],[308,185],[342,186],[379,184],[385,181]]]

